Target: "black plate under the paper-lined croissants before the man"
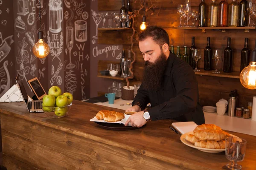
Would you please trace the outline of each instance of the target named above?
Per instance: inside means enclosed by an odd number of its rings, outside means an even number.
[[[95,122],[97,125],[102,127],[103,129],[108,129],[108,130],[134,130],[138,129],[138,127],[133,127],[133,126],[125,126],[123,124],[119,123],[104,123],[104,122]]]

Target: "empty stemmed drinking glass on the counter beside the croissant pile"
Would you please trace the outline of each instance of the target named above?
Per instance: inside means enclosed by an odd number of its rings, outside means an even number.
[[[230,170],[241,170],[242,166],[237,164],[238,161],[244,160],[245,149],[246,149],[246,140],[241,138],[235,138],[233,136],[227,137],[226,139],[226,158],[232,163],[227,164],[226,166]]]

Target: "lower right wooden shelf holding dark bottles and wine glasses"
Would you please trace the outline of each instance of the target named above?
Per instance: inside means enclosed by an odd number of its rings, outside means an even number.
[[[214,70],[212,70],[214,71]],[[220,74],[214,74],[212,71],[204,71],[204,69],[200,69],[200,71],[195,72],[196,75],[204,75],[204,76],[214,76],[214,77],[228,77],[228,78],[234,78],[239,79],[240,72],[232,72],[232,73],[224,73],[221,71]]]

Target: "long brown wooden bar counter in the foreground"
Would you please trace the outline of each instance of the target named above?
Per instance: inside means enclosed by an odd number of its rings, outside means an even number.
[[[1,103],[3,165],[8,170],[220,170],[225,153],[204,153],[180,142],[172,120],[148,122],[128,131],[100,128],[89,120],[109,109],[74,101],[70,114],[52,119],[28,113],[23,102]],[[243,170],[256,169],[256,136],[247,140]]]

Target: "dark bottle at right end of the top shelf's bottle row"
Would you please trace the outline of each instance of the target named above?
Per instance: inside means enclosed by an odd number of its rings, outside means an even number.
[[[246,8],[247,0],[241,0],[241,2],[239,3],[238,26],[244,27],[248,25],[249,15],[247,14]]]

